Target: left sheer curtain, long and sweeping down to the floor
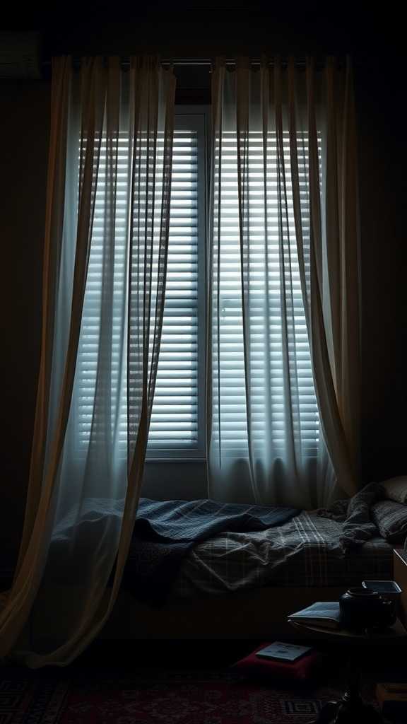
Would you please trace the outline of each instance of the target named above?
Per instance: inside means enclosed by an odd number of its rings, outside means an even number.
[[[33,667],[67,664],[91,641],[127,555],[164,308],[174,98],[154,58],[127,71],[116,58],[79,72],[53,61],[41,372],[0,615],[0,654]]]

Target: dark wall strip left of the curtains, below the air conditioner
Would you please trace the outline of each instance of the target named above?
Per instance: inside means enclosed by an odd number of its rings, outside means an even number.
[[[41,344],[49,83],[1,83],[1,549],[20,532]],[[18,539],[18,537],[17,537]]]

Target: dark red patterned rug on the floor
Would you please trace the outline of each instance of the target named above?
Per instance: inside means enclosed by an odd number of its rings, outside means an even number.
[[[0,681],[0,724],[307,724],[337,694],[213,670],[68,678],[14,669]]]

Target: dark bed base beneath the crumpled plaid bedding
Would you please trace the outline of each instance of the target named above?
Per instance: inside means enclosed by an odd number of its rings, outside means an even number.
[[[188,639],[264,639],[274,634],[300,638],[287,616],[315,601],[335,601],[345,590],[338,588],[264,587],[222,596],[169,599],[161,608],[139,602],[125,590],[119,592],[112,615],[98,634],[98,641],[154,641]],[[75,586],[53,586],[39,592],[25,630],[48,640],[64,640],[64,622],[70,620],[80,595]],[[106,592],[106,603],[109,592]],[[55,615],[55,612],[58,615]],[[67,623],[68,626],[68,623]],[[300,632],[302,633],[302,632]],[[306,631],[304,631],[306,635]]]

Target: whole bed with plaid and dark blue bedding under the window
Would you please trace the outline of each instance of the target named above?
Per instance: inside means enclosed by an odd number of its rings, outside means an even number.
[[[96,502],[89,505],[94,512]],[[298,638],[298,631],[285,623],[289,613],[316,600],[338,599],[348,586],[360,585],[364,578],[393,578],[393,547],[403,547],[407,538],[407,505],[387,500],[378,484],[366,486],[351,500],[338,501],[330,510],[286,509],[281,518],[281,509],[277,513],[274,509],[270,517],[269,510],[262,508],[260,523],[254,526],[253,507],[249,515],[247,510],[237,516],[233,513],[232,526],[213,526],[211,511],[217,510],[216,505],[211,501],[141,502],[122,589],[101,639]],[[204,536],[196,536],[190,544],[187,534],[186,548],[182,536],[188,523],[185,527],[180,506],[210,513],[210,535],[206,529]],[[164,581],[165,596],[152,602],[140,599],[140,590],[145,588],[140,581],[150,576],[161,590],[157,571],[168,571],[172,559],[165,531],[156,527],[156,542],[152,537],[158,545],[159,565],[151,568],[156,553],[151,549],[148,511],[154,509],[172,510],[172,520],[179,519],[180,539],[172,533],[169,538],[182,555],[177,554],[178,563]],[[100,515],[91,513],[83,523],[97,539],[92,521]],[[56,542],[60,556],[63,526]],[[141,578],[140,560],[144,565]],[[62,578],[55,581],[56,600],[59,607],[69,610],[75,590],[67,580],[67,569],[61,565],[59,570]],[[35,609],[41,615],[41,601]]]

